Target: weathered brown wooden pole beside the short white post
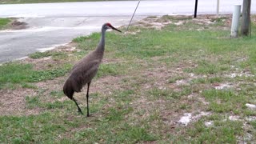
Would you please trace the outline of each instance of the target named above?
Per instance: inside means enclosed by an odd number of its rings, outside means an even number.
[[[251,0],[243,0],[241,34],[248,36],[250,31],[250,4]]]

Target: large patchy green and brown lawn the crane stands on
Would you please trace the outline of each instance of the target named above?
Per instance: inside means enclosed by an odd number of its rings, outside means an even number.
[[[62,85],[100,34],[0,66],[0,142],[256,142],[255,16],[249,38],[230,38],[230,16],[150,17],[130,28],[106,34],[90,118]],[[86,90],[74,97],[86,112]]]

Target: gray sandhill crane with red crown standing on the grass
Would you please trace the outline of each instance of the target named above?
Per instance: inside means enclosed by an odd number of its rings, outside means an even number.
[[[98,66],[102,62],[104,50],[105,50],[105,33],[106,30],[112,29],[121,32],[120,30],[111,26],[110,23],[105,23],[102,25],[102,36],[100,42],[98,43],[97,48],[90,52],[90,54],[86,55],[86,57],[82,58],[78,63],[73,66],[73,69],[70,72],[70,76],[66,79],[66,82],[63,86],[64,94],[74,101],[76,106],[78,107],[78,112],[82,114],[82,110],[78,106],[78,103],[74,99],[74,92],[81,92],[82,86],[87,84],[87,93],[86,93],[86,101],[87,101],[87,117],[89,117],[89,88],[90,82],[96,75],[98,71]]]

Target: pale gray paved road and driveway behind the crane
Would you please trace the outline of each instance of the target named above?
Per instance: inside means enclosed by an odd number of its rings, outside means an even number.
[[[234,4],[222,2],[220,13],[231,14]],[[104,22],[113,26],[128,25],[137,1],[66,2],[44,4],[0,5],[0,17],[20,18],[28,23],[26,30],[0,31],[0,63],[24,58],[35,51],[49,50],[73,38],[100,30]],[[256,13],[254,1],[252,13]],[[198,14],[215,14],[216,0],[198,2]],[[194,0],[142,1],[134,21],[149,15],[194,14]]]

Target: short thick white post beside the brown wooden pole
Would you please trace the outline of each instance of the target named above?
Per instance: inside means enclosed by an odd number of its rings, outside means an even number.
[[[238,37],[238,27],[239,27],[239,18],[241,14],[241,5],[234,5],[234,11],[232,16],[232,25],[231,25],[231,37]]]

